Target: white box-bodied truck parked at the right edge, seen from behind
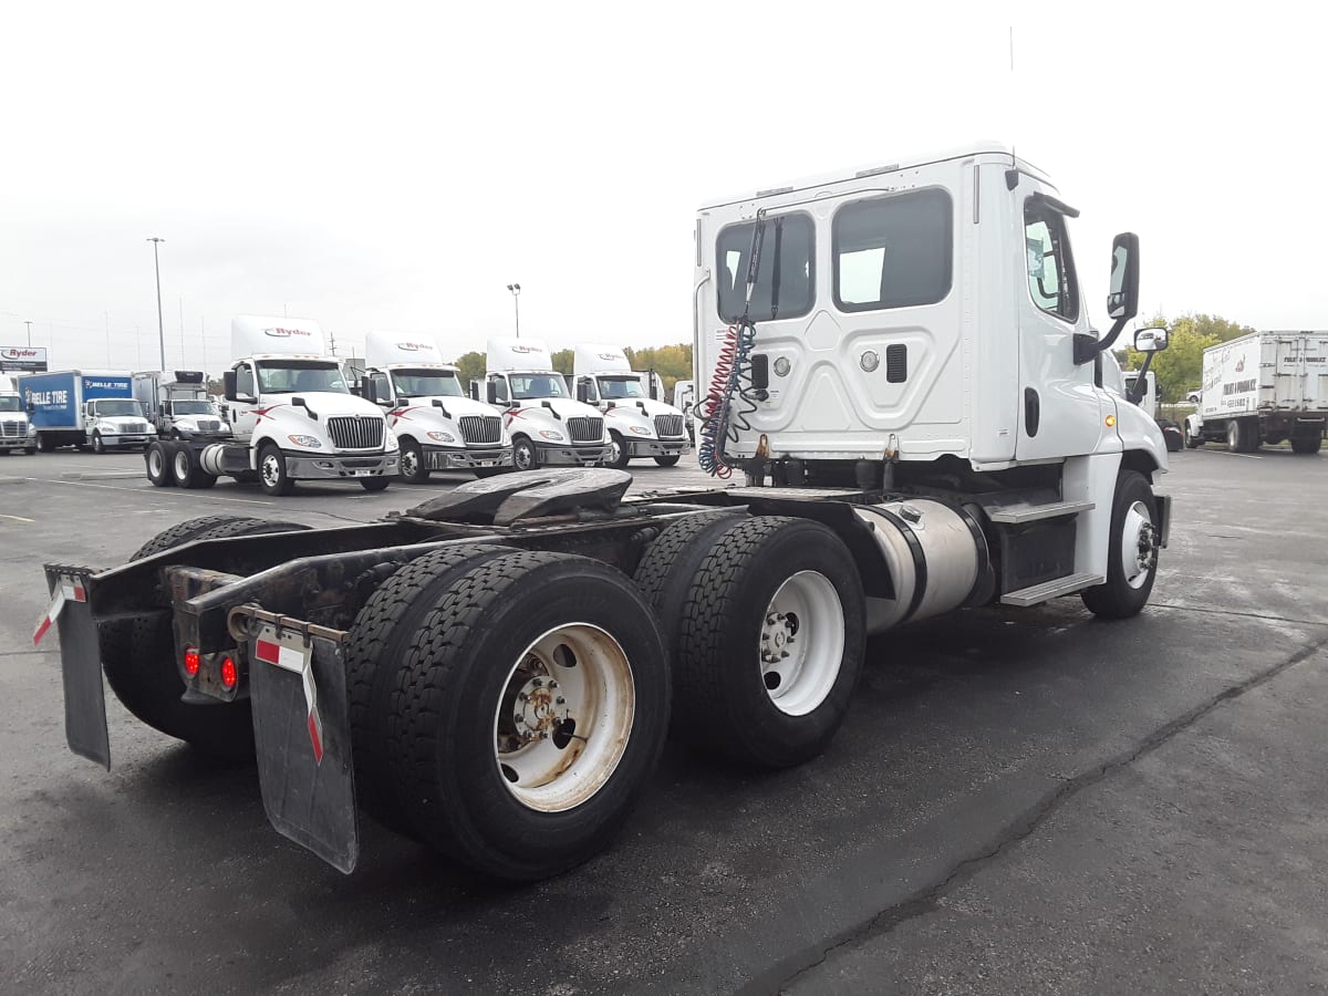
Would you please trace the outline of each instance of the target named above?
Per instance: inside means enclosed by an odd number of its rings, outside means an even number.
[[[1252,332],[1203,351],[1203,388],[1185,420],[1186,442],[1250,453],[1291,440],[1317,453],[1328,424],[1328,331]]]

